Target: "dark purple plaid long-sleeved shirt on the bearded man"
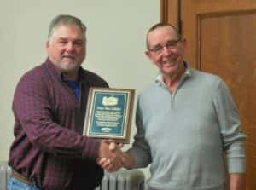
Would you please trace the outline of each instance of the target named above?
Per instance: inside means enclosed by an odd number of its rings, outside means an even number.
[[[46,60],[20,79],[13,101],[15,141],[9,165],[45,190],[87,190],[102,180],[99,141],[82,136],[90,87],[108,87],[79,69],[79,101],[65,77]]]

